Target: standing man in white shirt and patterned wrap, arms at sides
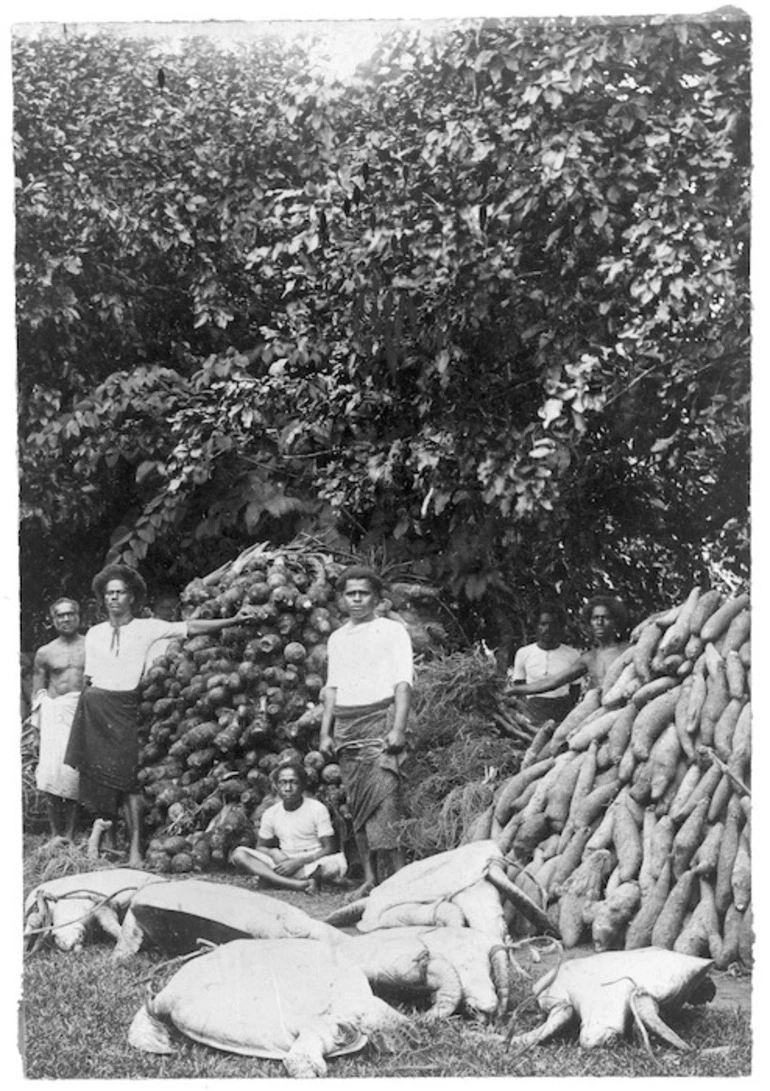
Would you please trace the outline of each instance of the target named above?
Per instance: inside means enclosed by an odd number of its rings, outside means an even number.
[[[337,589],[348,621],[328,642],[320,750],[336,754],[347,792],[364,874],[356,898],[404,866],[397,823],[412,647],[400,622],[376,616],[382,583],[370,568],[346,568]]]

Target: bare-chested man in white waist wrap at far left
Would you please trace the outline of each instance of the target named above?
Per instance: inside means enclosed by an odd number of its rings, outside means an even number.
[[[58,636],[35,654],[32,682],[32,715],[40,732],[36,783],[48,796],[51,835],[72,840],[79,776],[64,764],[64,751],[83,688],[85,637],[79,633],[80,608],[74,599],[57,599],[50,614]]]

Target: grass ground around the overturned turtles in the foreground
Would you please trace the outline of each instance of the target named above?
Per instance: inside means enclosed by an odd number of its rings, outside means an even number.
[[[28,854],[34,860],[34,853]],[[25,885],[37,882],[33,868]],[[220,877],[224,878],[224,877]],[[233,880],[232,876],[227,876]],[[236,879],[241,882],[240,879]],[[317,916],[339,903],[338,896],[287,896]],[[141,952],[129,964],[110,960],[111,944],[93,944],[79,954],[41,948],[25,960],[21,1047],[29,1079],[236,1079],[281,1078],[277,1062],[238,1057],[181,1040],[171,1056],[139,1053],[127,1042],[128,1027],[140,1008],[147,979],[164,956]],[[534,976],[539,969],[534,969]],[[168,973],[168,971],[166,971]],[[160,981],[164,979],[160,978]],[[156,984],[157,987],[157,984]],[[719,990],[719,982],[718,982]],[[526,982],[515,986],[517,1030],[539,1022]],[[407,1010],[405,1008],[405,1010]],[[497,1032],[507,1030],[506,1024]],[[517,1053],[494,1029],[460,1017],[432,1023],[419,1012],[408,1040],[385,1048],[370,1044],[350,1057],[329,1063],[337,1078],[369,1077],[719,1077],[748,1076],[751,1069],[750,1019],[745,1010],[720,1005],[687,1008],[671,1020],[693,1048],[686,1053],[640,1042],[586,1052],[574,1039]]]

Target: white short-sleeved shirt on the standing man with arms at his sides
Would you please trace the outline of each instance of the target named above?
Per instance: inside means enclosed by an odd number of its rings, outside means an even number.
[[[348,621],[329,636],[326,684],[337,705],[372,705],[393,697],[399,682],[412,684],[412,643],[407,628],[390,618],[353,625]]]

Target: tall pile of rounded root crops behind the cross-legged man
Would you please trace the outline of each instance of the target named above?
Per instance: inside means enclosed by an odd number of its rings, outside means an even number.
[[[334,583],[344,563],[299,541],[257,544],[182,592],[192,616],[253,618],[216,635],[173,642],[143,680],[140,781],[147,866],[184,873],[225,865],[253,844],[276,801],[270,772],[292,757],[344,829],[339,767],[317,748],[326,644],[340,624]],[[418,656],[446,642],[435,591],[398,583],[380,609],[407,625]]]

